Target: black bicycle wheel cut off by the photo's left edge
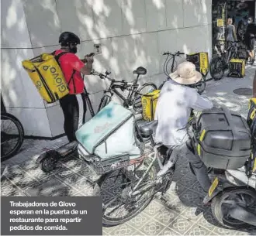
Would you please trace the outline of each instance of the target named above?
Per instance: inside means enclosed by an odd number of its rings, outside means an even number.
[[[24,139],[24,129],[13,115],[1,112],[1,162],[14,156]]]

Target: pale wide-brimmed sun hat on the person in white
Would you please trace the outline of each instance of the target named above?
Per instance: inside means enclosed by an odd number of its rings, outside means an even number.
[[[202,79],[202,74],[195,70],[195,65],[189,61],[185,61],[178,65],[177,70],[169,75],[171,80],[178,84],[196,84]]]

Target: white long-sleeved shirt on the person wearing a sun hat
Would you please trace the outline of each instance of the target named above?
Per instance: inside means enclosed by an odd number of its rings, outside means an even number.
[[[157,100],[155,120],[158,120],[155,141],[164,145],[182,145],[189,135],[186,125],[192,109],[213,108],[213,102],[200,96],[194,88],[168,80]]]

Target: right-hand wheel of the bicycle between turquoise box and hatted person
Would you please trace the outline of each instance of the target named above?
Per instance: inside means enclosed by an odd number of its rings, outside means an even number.
[[[153,83],[147,83],[142,85],[140,89],[137,91],[133,99],[133,110],[137,113],[142,113],[142,103],[141,103],[141,95],[140,94],[147,94],[152,91],[157,90],[157,85]]]

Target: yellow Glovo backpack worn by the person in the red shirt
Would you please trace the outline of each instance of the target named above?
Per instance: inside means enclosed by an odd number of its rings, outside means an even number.
[[[58,62],[60,56],[65,53],[67,52],[57,56],[54,56],[54,53],[43,53],[31,60],[22,61],[22,66],[47,103],[54,103],[69,93],[68,84]]]

